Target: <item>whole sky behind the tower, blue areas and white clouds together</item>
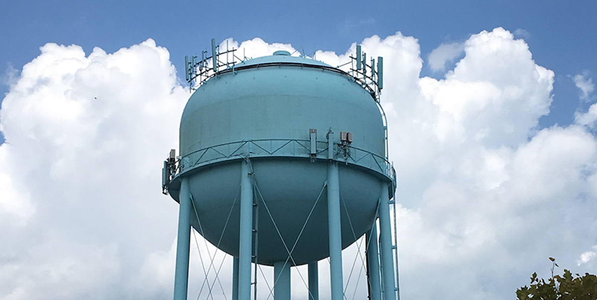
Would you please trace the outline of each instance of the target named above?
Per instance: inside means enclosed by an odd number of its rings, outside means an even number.
[[[1,2],[0,298],[171,297],[179,207],[159,175],[189,99],[184,56],[211,38],[253,57],[338,65],[353,43],[384,57],[402,299],[513,299],[550,256],[595,274],[596,8]],[[191,297],[206,249],[192,249]]]

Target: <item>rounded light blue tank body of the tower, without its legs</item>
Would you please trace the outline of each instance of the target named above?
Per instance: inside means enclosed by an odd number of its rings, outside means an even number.
[[[312,128],[317,130],[315,155],[310,154]],[[276,51],[202,84],[180,121],[181,170],[170,193],[178,200],[180,177],[189,176],[198,216],[192,212],[193,227],[238,256],[241,162],[248,158],[259,211],[259,264],[285,261],[282,239],[288,248],[296,244],[296,265],[326,258],[330,129],[338,143],[334,158],[341,162],[342,247],[347,247],[371,228],[381,182],[392,180],[392,169],[384,160],[383,121],[371,94],[317,60]],[[340,131],[352,133],[350,147],[339,145]]]

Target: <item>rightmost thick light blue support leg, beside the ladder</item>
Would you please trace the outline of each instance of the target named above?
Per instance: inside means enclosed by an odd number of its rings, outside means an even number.
[[[383,300],[396,300],[392,228],[390,226],[390,199],[387,189],[387,182],[381,183],[381,197],[379,198],[381,279],[383,280]]]

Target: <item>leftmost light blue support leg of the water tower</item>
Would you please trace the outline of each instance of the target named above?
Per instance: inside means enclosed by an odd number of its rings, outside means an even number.
[[[186,300],[187,298],[187,286],[189,284],[190,201],[189,179],[183,177],[179,197],[179,233],[176,244],[174,300]]]

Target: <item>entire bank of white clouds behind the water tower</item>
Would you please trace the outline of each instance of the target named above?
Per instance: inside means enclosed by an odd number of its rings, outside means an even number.
[[[295,51],[259,38],[228,42],[248,57]],[[420,77],[412,36],[361,44],[384,57],[402,299],[511,299],[534,271],[548,275],[549,256],[597,272],[597,106],[567,127],[537,128],[554,74],[501,28],[470,36],[439,80]],[[315,57],[341,65],[354,48]],[[188,97],[151,39],[88,56],[47,44],[24,66],[0,110],[1,298],[171,296],[178,208],[159,194],[159,169],[177,146]],[[200,253],[206,261],[214,249],[192,253],[190,297],[208,269]],[[228,277],[210,279],[218,298]]]

